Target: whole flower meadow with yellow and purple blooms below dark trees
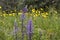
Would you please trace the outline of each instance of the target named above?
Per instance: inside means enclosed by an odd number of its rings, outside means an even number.
[[[0,12],[0,40],[60,40],[60,16],[57,11],[51,14],[32,9],[32,12],[22,14]]]

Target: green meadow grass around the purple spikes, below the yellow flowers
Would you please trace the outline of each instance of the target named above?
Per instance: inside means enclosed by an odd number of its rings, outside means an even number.
[[[14,36],[11,34],[14,27],[14,20],[16,19],[18,28],[21,28],[21,15],[0,15],[0,40],[14,40]],[[38,15],[38,16],[36,16]],[[33,21],[33,34],[32,40],[60,40],[60,16],[54,13],[51,15],[42,16],[42,13],[26,13],[24,21],[24,40],[28,40],[26,34],[26,25],[29,18],[32,16]],[[45,15],[45,14],[44,14]],[[21,31],[17,33],[18,40],[21,39]]]

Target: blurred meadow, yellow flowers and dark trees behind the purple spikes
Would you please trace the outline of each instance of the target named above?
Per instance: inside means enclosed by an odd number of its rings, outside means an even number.
[[[59,2],[60,0],[0,0],[0,40],[22,40],[21,15],[25,5],[28,11],[24,19],[24,40],[28,40],[26,25],[30,17],[33,23],[32,40],[60,40]],[[16,33],[15,20],[18,28]]]

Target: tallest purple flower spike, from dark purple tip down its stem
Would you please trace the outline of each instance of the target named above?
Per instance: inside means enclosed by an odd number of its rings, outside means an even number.
[[[22,39],[21,40],[24,40],[24,19],[25,19],[25,13],[27,12],[27,6],[25,6],[23,9],[22,9],[23,13],[21,15],[21,32],[22,32]]]

